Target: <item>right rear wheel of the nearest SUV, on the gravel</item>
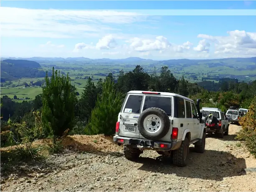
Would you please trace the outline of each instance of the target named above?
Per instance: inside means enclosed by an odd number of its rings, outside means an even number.
[[[189,154],[189,142],[188,142],[188,138],[185,138],[185,140],[182,141],[180,148],[178,148],[177,150],[173,150],[173,153],[172,153],[173,164],[179,167],[186,166],[187,160],[188,160],[188,154]]]

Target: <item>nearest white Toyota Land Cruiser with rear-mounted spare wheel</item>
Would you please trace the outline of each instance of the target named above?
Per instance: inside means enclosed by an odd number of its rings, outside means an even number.
[[[205,124],[193,100],[172,93],[129,91],[118,115],[114,142],[124,145],[124,156],[139,158],[143,150],[169,156],[177,166],[185,166],[189,145],[205,150]]]

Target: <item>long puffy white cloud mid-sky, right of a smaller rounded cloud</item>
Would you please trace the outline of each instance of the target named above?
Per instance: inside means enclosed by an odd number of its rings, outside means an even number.
[[[140,39],[135,37],[126,42],[130,43],[130,48],[132,50],[138,52],[161,51],[169,49],[171,46],[167,38],[163,36],[158,36],[155,39]]]

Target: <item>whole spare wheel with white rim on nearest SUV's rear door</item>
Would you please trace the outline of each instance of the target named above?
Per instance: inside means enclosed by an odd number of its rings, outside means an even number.
[[[144,138],[158,140],[168,133],[170,119],[160,108],[147,108],[138,118],[138,129]]]

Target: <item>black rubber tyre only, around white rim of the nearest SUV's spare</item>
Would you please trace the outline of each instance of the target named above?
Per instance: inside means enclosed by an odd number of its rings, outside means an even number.
[[[150,133],[143,125],[144,119],[149,115],[156,115],[161,121],[162,125],[156,133]],[[144,138],[159,140],[163,138],[170,129],[170,119],[168,115],[160,108],[152,107],[144,110],[138,118],[138,129]]]

